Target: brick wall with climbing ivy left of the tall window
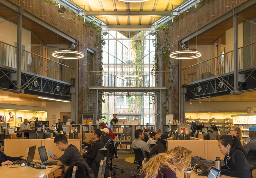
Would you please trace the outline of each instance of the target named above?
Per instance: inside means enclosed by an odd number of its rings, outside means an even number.
[[[78,60],[78,68],[76,72],[78,73],[78,83],[76,87],[78,88],[78,123],[82,123],[82,114],[85,113],[85,87],[88,87],[87,83],[87,48],[95,51],[95,64],[98,66],[98,58],[100,55],[100,49],[97,47],[99,42],[96,39],[97,31],[92,27],[86,27],[83,25],[83,19],[76,17],[74,12],[69,12],[66,10],[63,14],[58,11],[58,7],[50,2],[45,2],[44,0],[10,0],[14,4],[22,7],[24,10],[38,17],[39,19],[45,21],[49,25],[52,25],[56,29],[66,33],[73,39],[77,40],[78,46],[76,50],[82,52],[85,57]],[[32,6],[32,7],[30,7]],[[42,16],[46,15],[46,16]],[[64,17],[62,17],[64,16]],[[73,20],[73,17],[75,18]],[[72,19],[72,20],[69,20]],[[60,24],[60,25],[55,25]],[[71,32],[68,32],[71,31]],[[91,31],[93,32],[91,34]],[[99,67],[94,68],[99,70]],[[75,119],[73,119],[75,120]]]

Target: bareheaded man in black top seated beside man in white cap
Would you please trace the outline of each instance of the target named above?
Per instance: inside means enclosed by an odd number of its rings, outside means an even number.
[[[83,154],[83,157],[86,158],[86,163],[91,166],[93,160],[95,159],[98,150],[101,148],[104,148],[103,142],[101,141],[101,130],[100,129],[94,129],[92,134],[91,134],[91,138],[93,139],[93,143],[92,144],[88,144],[87,147],[87,153]],[[84,152],[82,152],[84,153]]]

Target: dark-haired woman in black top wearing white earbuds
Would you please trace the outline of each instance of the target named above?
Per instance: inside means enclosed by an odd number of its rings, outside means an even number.
[[[239,178],[251,178],[246,152],[240,140],[233,135],[222,135],[218,140],[218,145],[221,153],[225,154],[225,166],[221,166],[221,174]]]

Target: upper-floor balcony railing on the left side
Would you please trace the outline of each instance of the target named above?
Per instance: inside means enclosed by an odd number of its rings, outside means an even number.
[[[52,60],[32,52],[22,50],[21,70],[74,84],[76,71],[74,68],[52,62]],[[17,47],[0,41],[1,65],[17,68]],[[48,68],[46,66],[52,62]]]

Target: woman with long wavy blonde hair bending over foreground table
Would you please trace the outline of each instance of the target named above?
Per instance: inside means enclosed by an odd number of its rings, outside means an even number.
[[[167,153],[152,157],[142,168],[140,178],[176,178],[177,170],[184,172],[190,166],[191,151],[177,146]]]

